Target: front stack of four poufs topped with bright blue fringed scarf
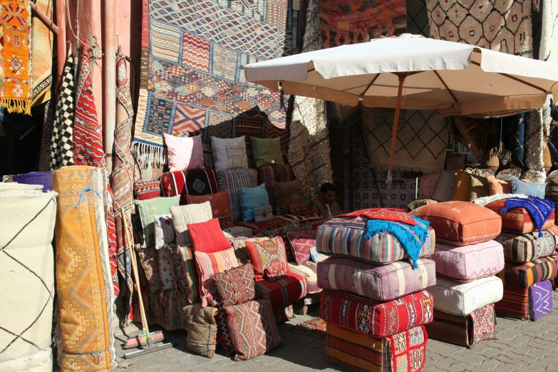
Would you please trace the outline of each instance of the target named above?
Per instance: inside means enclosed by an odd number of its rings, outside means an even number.
[[[433,319],[435,232],[403,210],[341,215],[318,227],[326,358],[356,371],[421,371]],[[376,342],[376,341],[380,342]],[[409,367],[409,368],[408,368]]]

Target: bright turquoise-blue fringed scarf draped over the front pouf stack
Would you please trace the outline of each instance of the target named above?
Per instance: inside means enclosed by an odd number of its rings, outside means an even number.
[[[388,232],[396,237],[403,249],[413,260],[413,269],[418,268],[417,260],[420,256],[420,250],[423,249],[426,237],[428,237],[428,226],[430,222],[411,216],[417,222],[416,226],[404,224],[403,222],[389,222],[381,219],[368,219],[365,238],[371,239],[373,235],[380,232]]]

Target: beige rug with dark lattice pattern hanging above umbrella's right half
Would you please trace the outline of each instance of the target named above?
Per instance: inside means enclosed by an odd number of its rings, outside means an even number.
[[[429,0],[426,4],[430,37],[533,58],[532,1]]]

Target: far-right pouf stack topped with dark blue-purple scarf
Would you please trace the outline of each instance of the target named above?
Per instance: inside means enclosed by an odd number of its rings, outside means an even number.
[[[535,321],[552,313],[557,274],[552,254],[558,243],[554,202],[515,196],[486,205],[502,216],[502,233],[496,240],[504,246],[505,265],[498,274],[504,296],[495,309],[502,316]]]

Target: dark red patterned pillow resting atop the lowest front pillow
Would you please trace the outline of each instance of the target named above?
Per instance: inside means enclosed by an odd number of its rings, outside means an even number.
[[[244,304],[256,298],[256,281],[252,264],[219,272],[212,278],[224,307]]]

